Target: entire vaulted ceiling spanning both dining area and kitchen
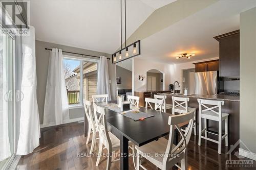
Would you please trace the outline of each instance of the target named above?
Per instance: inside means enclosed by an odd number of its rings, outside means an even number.
[[[239,13],[254,0],[127,0],[127,41],[168,64],[218,57],[214,36],[239,29]],[[31,1],[36,40],[112,54],[120,47],[120,1]],[[123,35],[124,39],[124,35]],[[181,53],[195,53],[179,59]],[[118,65],[131,70],[132,61]]]

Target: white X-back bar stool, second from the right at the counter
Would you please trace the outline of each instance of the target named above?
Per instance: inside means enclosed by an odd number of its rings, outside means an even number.
[[[192,110],[194,111],[193,128],[194,128],[194,135],[196,136],[197,135],[197,127],[196,127],[196,125],[197,125],[197,122],[196,122],[197,109],[188,107],[189,98],[180,98],[180,97],[172,96],[172,99],[173,99],[173,110],[172,110],[173,114],[175,114],[175,113],[183,114],[183,113],[190,112]],[[182,131],[184,131],[184,130],[182,129]]]

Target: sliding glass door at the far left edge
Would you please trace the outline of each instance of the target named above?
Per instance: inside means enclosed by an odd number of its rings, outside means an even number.
[[[0,169],[15,153],[15,36],[0,35]]]

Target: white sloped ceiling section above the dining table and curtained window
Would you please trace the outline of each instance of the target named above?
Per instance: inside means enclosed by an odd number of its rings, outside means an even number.
[[[175,1],[127,0],[127,37],[156,9]],[[31,1],[30,5],[36,40],[109,54],[120,46],[120,1]]]

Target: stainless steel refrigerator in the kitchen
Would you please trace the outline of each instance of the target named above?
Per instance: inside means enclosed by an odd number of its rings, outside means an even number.
[[[217,71],[195,72],[195,94],[217,94]]]

